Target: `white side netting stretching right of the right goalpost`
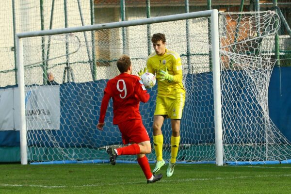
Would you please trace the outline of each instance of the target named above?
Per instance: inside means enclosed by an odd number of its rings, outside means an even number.
[[[280,21],[274,12],[229,13],[223,19],[227,24],[221,31],[224,160],[290,159],[290,142],[273,124],[268,109],[275,65],[271,48]]]

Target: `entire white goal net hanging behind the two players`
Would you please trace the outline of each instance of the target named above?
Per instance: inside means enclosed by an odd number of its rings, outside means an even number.
[[[215,162],[213,30],[219,31],[223,160],[291,159],[291,143],[268,114],[268,84],[275,63],[272,41],[280,22],[274,12],[221,13],[219,29],[210,29],[211,17],[204,14],[143,25],[134,22],[126,27],[120,22],[94,31],[64,30],[22,38],[25,95],[21,100],[25,102],[22,116],[29,162],[108,162],[106,148],[124,146],[119,129],[112,124],[112,101],[104,130],[96,129],[103,90],[119,74],[116,60],[121,54],[129,54],[135,75],[146,66],[152,47],[149,38],[158,32],[166,35],[167,49],[178,52],[183,65],[187,94],[177,160]],[[49,73],[55,82],[48,82]],[[149,89],[149,102],[140,105],[151,142],[156,90],[156,86]],[[162,131],[163,158],[169,160],[169,119]],[[154,151],[149,161],[155,161]],[[135,156],[117,159],[136,160]]]

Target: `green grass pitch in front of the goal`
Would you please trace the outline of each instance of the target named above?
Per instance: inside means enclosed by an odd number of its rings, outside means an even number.
[[[151,164],[151,169],[154,165]],[[178,164],[146,184],[138,164],[0,164],[0,194],[290,194],[291,165]]]

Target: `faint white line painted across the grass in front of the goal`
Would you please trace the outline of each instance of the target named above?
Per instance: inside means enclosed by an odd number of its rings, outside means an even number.
[[[241,177],[232,177],[232,178],[186,178],[186,179],[173,179],[173,180],[165,180],[162,179],[160,182],[191,182],[191,181],[209,181],[209,180],[230,180],[230,179],[243,179],[243,178],[263,178],[263,177],[291,177],[291,174],[286,175],[258,175],[258,176],[241,176]],[[123,182],[123,183],[108,183],[108,184],[90,184],[90,185],[59,185],[59,186],[46,186],[46,185],[20,185],[20,184],[0,184],[0,187],[40,187],[40,188],[77,188],[77,187],[99,187],[99,186],[105,186],[105,185],[128,185],[128,184],[140,184],[140,183],[146,183],[146,181],[143,182]]]

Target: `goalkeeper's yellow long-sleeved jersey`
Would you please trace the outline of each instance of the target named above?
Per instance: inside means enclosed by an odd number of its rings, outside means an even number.
[[[166,49],[162,56],[157,55],[156,52],[154,52],[147,57],[146,67],[148,72],[156,74],[158,81],[158,95],[185,93],[182,83],[183,75],[181,58],[177,52]],[[166,71],[166,67],[168,73],[174,76],[173,81],[161,81],[159,71]]]

